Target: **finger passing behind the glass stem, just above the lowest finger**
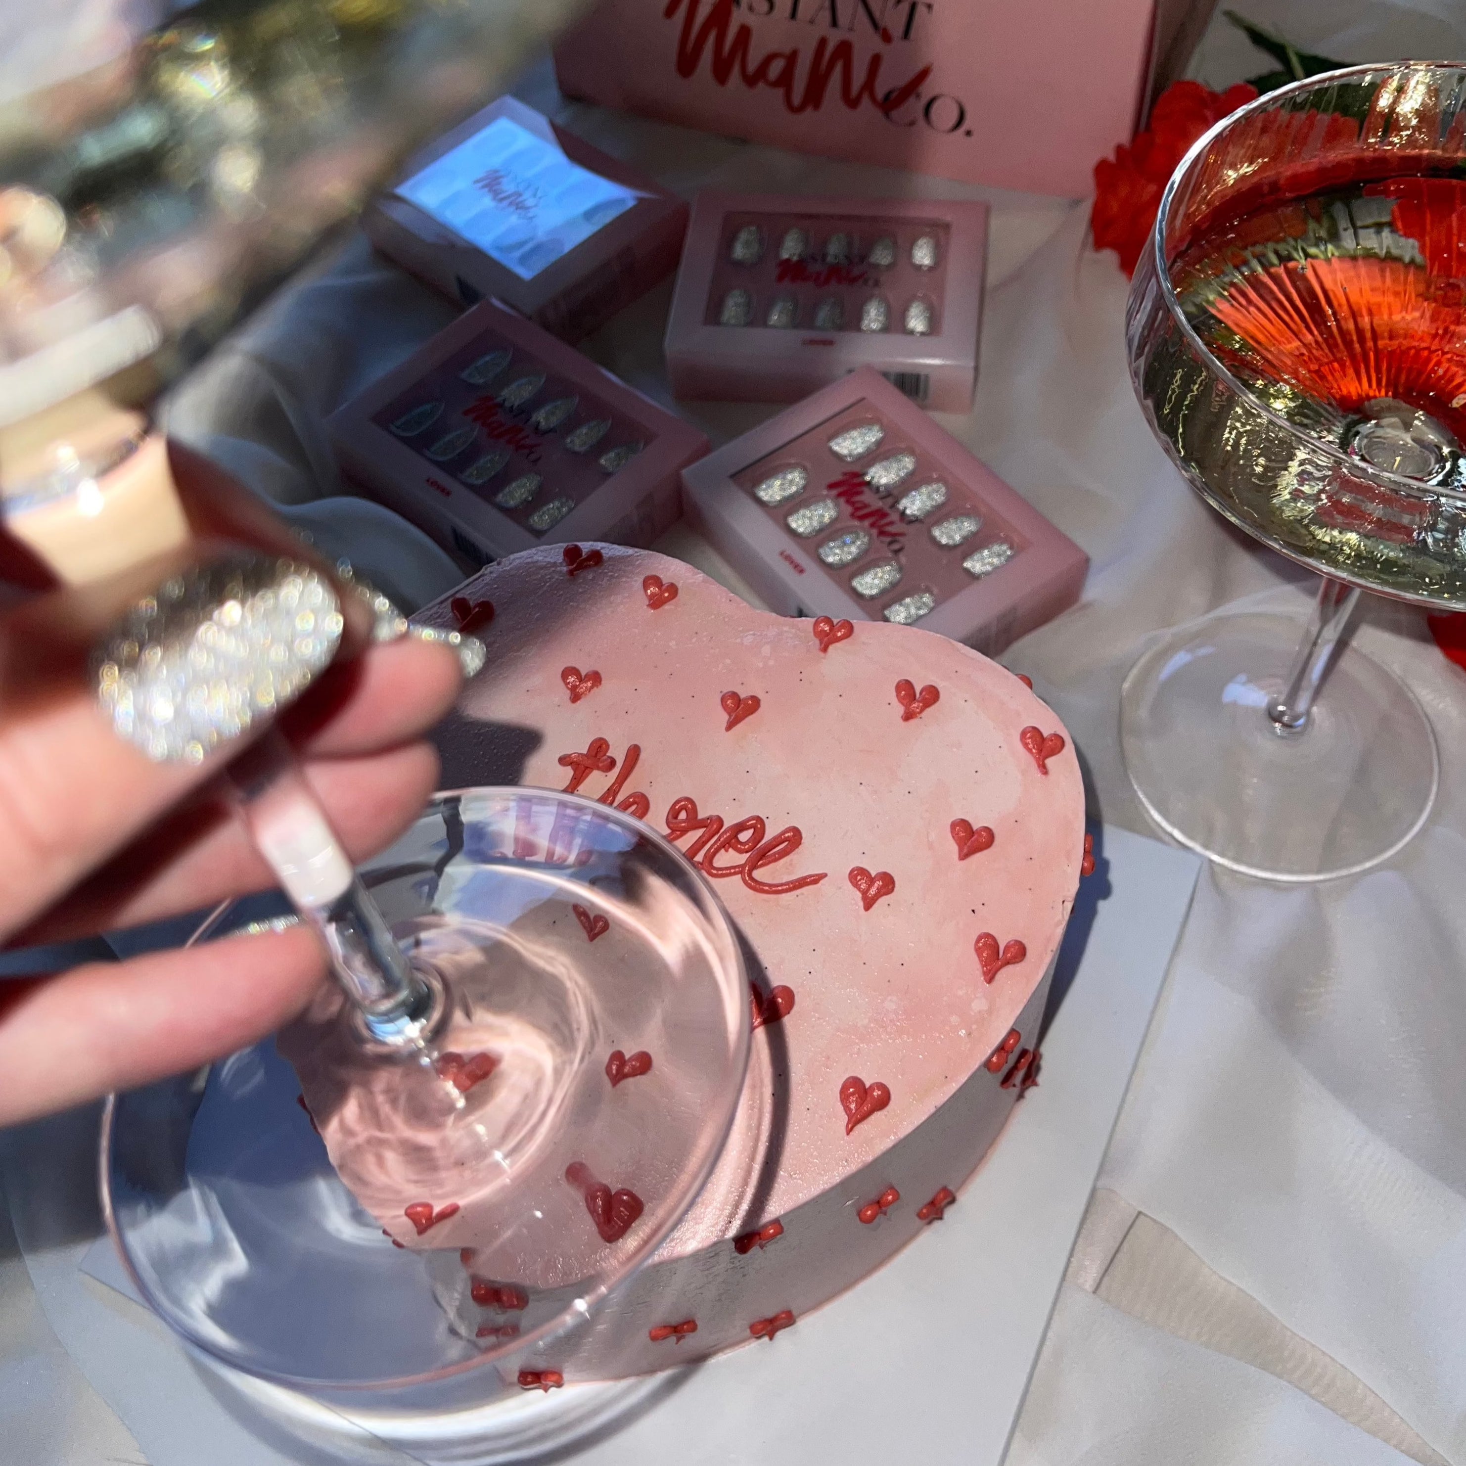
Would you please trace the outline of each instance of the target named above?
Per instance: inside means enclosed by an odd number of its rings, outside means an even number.
[[[346,853],[361,862],[391,844],[422,812],[437,787],[438,758],[430,745],[412,743],[308,764],[305,773]],[[205,790],[16,932],[10,946],[48,946],[141,927],[274,885],[237,808]]]

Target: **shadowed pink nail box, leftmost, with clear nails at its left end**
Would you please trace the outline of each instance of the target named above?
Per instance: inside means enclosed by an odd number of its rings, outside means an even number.
[[[575,539],[648,545],[708,450],[680,418],[485,302],[331,416],[342,469],[446,550],[488,564]]]

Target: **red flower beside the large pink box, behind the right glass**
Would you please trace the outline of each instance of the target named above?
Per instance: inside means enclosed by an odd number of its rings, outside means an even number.
[[[1095,164],[1095,201],[1089,227],[1095,249],[1113,249],[1126,274],[1135,274],[1141,251],[1161,207],[1161,194],[1187,148],[1214,123],[1258,95],[1237,82],[1224,92],[1201,82],[1173,82],[1151,108],[1151,126],[1130,147]]]

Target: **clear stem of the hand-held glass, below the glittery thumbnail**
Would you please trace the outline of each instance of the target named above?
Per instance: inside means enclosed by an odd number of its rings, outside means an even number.
[[[441,1009],[437,984],[408,960],[342,849],[286,739],[270,730],[229,770],[257,849],[315,928],[369,1041],[421,1044]]]

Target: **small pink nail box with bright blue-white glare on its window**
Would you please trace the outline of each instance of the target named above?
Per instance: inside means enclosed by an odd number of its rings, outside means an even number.
[[[500,97],[413,158],[362,227],[463,305],[493,296],[578,342],[676,270],[688,205]]]

